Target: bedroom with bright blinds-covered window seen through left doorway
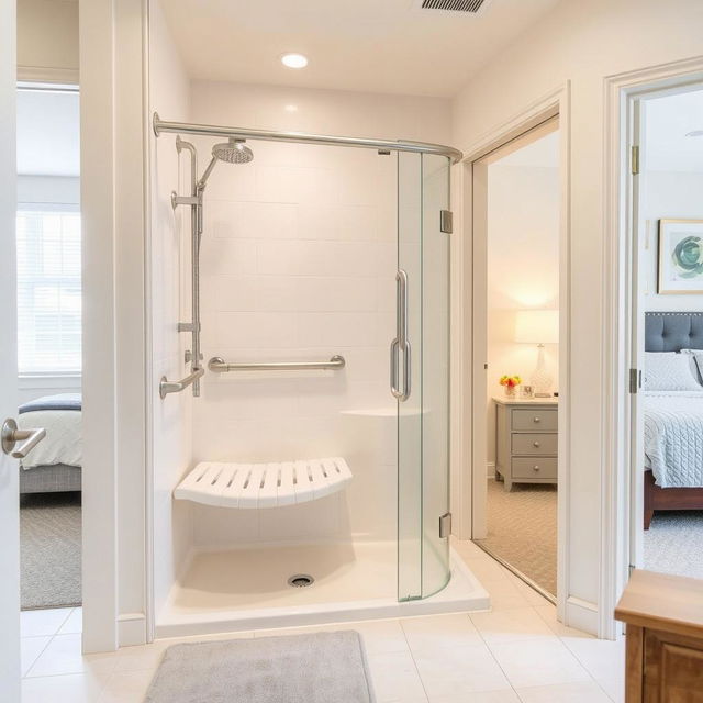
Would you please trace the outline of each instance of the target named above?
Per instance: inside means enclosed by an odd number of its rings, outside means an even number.
[[[16,105],[16,419],[46,431],[19,464],[26,674],[53,638],[81,632],[78,87],[21,81]]]

